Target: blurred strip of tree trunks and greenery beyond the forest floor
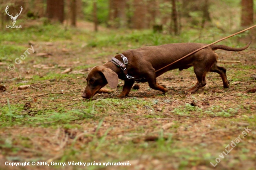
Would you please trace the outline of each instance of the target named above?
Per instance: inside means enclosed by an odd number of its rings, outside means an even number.
[[[3,0],[1,27],[9,21],[5,8],[20,19],[41,20],[79,26],[77,21],[94,22],[109,28],[153,29],[178,35],[188,29],[202,31],[216,27],[221,32],[237,30],[255,22],[256,0]]]

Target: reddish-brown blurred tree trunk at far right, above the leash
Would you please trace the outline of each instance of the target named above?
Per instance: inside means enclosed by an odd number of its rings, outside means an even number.
[[[242,0],[241,26],[253,24],[253,0]]]

